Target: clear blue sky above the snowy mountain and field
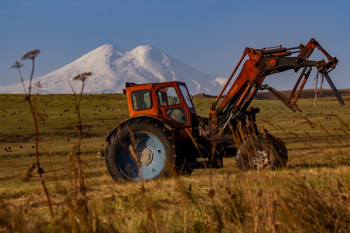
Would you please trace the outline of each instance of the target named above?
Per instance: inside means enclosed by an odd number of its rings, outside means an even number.
[[[330,73],[336,87],[350,88],[349,9],[350,1],[1,0],[0,86],[20,81],[10,66],[34,49],[41,50],[34,77],[104,44],[127,51],[153,45],[198,71],[228,77],[245,47],[288,48],[313,37],[339,60]],[[28,79],[31,64],[22,63]],[[299,74],[284,73],[265,83],[292,89]]]

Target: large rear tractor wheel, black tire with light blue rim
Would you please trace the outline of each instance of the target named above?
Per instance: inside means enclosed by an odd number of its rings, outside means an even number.
[[[112,179],[124,181],[152,180],[169,174],[174,170],[172,141],[169,130],[159,122],[151,119],[127,122],[109,139],[107,170]]]

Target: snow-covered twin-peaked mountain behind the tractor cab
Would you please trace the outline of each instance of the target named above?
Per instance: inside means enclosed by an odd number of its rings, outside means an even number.
[[[69,94],[72,93],[69,79],[76,92],[80,92],[81,81],[72,81],[72,78],[89,71],[92,75],[85,81],[84,93],[94,94],[122,93],[125,82],[182,81],[192,94],[215,95],[227,80],[201,73],[153,46],[138,46],[127,52],[105,44],[59,70],[33,79],[33,83],[40,82],[41,94]],[[26,87],[28,83],[25,81]],[[35,92],[36,87],[32,90]],[[0,93],[23,93],[23,87],[21,83],[0,87]]]

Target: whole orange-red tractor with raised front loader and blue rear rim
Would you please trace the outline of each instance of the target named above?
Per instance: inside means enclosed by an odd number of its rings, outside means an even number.
[[[308,60],[314,49],[325,60]],[[297,57],[290,57],[299,53]],[[248,55],[241,72],[229,88],[233,75]],[[341,105],[344,101],[329,78],[338,60],[331,57],[313,38],[294,48],[246,48],[217,99],[209,107],[209,117],[196,115],[184,82],[126,83],[130,118],[107,137],[107,169],[114,180],[152,180],[169,174],[191,174],[197,168],[222,168],[223,158],[236,156],[239,169],[270,170],[285,167],[285,144],[255,123],[258,108],[249,107],[258,90],[267,89],[292,111],[301,111],[296,102],[312,67],[324,77]],[[270,74],[303,68],[289,97],[268,85]],[[300,84],[301,82],[301,84]],[[296,92],[296,89],[299,90]],[[219,100],[221,104],[217,107]]]

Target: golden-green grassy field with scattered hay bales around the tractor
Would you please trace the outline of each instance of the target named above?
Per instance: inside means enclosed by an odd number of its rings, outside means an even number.
[[[289,160],[285,169],[244,173],[234,158],[228,158],[224,159],[224,168],[195,170],[191,176],[116,183],[97,152],[105,150],[105,138],[118,122],[128,118],[126,96],[83,95],[80,156],[86,197],[79,189],[77,199],[73,188],[75,165],[69,159],[78,140],[75,96],[32,97],[41,114],[38,148],[54,219],[39,175],[24,180],[28,166],[36,161],[35,149],[30,148],[35,144],[35,130],[28,102],[21,94],[0,94],[0,147],[7,148],[0,152],[0,232],[350,229],[348,97],[344,97],[345,107],[334,97],[321,98],[314,112],[314,100],[301,99],[300,113],[293,113],[278,100],[252,102],[253,107],[260,108],[259,128],[286,142]],[[197,114],[208,116],[212,101],[195,97]]]

